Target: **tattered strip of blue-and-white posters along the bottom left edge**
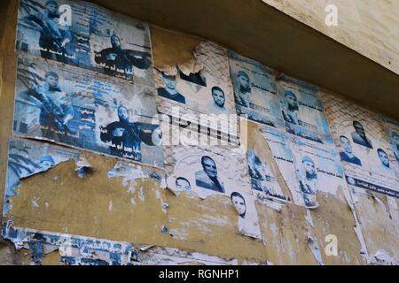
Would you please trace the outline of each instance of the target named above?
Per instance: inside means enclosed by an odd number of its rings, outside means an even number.
[[[3,225],[4,239],[16,249],[30,249],[31,264],[42,264],[43,256],[59,250],[59,262],[68,265],[126,265],[134,254],[127,242],[108,241],[66,233],[51,233]]]

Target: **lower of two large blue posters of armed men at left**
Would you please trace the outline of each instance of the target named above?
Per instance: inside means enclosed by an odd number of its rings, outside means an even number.
[[[18,57],[14,134],[163,165],[153,88]]]

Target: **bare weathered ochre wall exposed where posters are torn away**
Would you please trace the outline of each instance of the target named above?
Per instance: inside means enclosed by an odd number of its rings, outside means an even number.
[[[7,6],[7,3],[10,4]],[[14,52],[17,4],[3,4],[0,30],[0,128],[1,172],[4,184],[7,141],[12,130],[13,94],[16,75]],[[158,27],[152,28],[153,58],[156,67],[184,64],[192,60],[192,50],[200,38],[178,34]],[[256,131],[250,123],[249,134]],[[249,141],[249,146],[256,141]],[[257,203],[263,241],[245,237],[236,232],[237,213],[225,197],[199,200],[192,195],[176,197],[151,180],[137,180],[134,193],[120,178],[109,179],[107,172],[116,161],[110,157],[85,155],[93,172],[79,179],[74,162],[57,165],[49,172],[38,173],[21,181],[19,195],[12,198],[14,226],[57,233],[72,233],[113,241],[128,241],[134,245],[156,245],[196,251],[225,259],[265,264],[317,264],[308,245],[312,235],[321,249],[324,264],[365,264],[359,254],[361,244],[356,237],[356,221],[347,203],[343,188],[336,197],[319,195],[317,210],[310,212],[313,226],[306,219],[306,209],[286,204],[281,211]],[[272,162],[270,149],[264,148],[264,157]],[[285,192],[289,189],[283,177],[278,184]],[[4,186],[2,186],[3,188]],[[3,195],[3,194],[2,194]],[[31,204],[37,200],[38,207]],[[3,207],[3,197],[0,198]],[[132,199],[135,205],[132,205]],[[112,209],[110,209],[112,202]],[[45,205],[48,203],[48,205]],[[168,203],[165,210],[163,203]],[[364,225],[364,237],[369,253],[386,249],[398,255],[397,226],[387,213],[387,204],[365,198],[356,206]],[[220,219],[223,219],[222,223]],[[162,227],[168,233],[161,233]],[[339,256],[325,256],[325,236],[335,234],[339,239]],[[26,250],[15,252],[9,242],[0,241],[0,264],[28,264]],[[58,264],[59,254],[45,256],[43,264]]]

